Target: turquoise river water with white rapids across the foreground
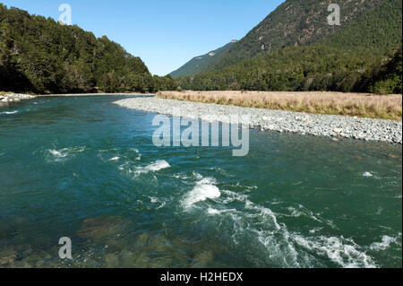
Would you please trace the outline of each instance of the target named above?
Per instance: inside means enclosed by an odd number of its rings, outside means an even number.
[[[157,148],[155,115],[122,98],[0,110],[0,267],[402,266],[401,146],[251,131],[243,158]]]

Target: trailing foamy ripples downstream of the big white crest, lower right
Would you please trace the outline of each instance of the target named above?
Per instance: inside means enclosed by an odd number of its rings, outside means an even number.
[[[247,195],[237,194],[235,192],[223,190],[225,197],[219,199],[223,206],[234,201],[244,202],[242,212],[229,209],[219,209],[209,206],[207,213],[210,216],[227,215],[234,222],[234,233],[232,235],[234,243],[242,241],[244,235],[256,239],[256,242],[262,244],[267,249],[270,263],[279,263],[284,266],[317,266],[321,259],[318,256],[325,256],[341,267],[364,267],[373,268],[377,265],[373,258],[365,253],[366,248],[356,245],[350,238],[324,237],[316,234],[322,230],[322,227],[310,230],[312,236],[305,237],[299,233],[287,230],[284,223],[280,223],[277,213],[269,208],[259,204],[254,204]],[[319,216],[315,216],[299,205],[298,209],[289,208],[292,216],[306,215],[314,221],[322,221]],[[253,221],[253,223],[251,223]],[[389,240],[388,240],[389,242]],[[297,248],[304,248],[304,251],[297,251]],[[262,259],[265,259],[262,257]]]

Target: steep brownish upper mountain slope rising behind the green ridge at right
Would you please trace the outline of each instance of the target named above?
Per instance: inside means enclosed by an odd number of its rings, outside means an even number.
[[[321,42],[344,29],[350,22],[383,0],[287,0],[253,28],[243,39],[229,48],[208,71],[236,64],[253,56],[268,54],[279,48]],[[339,4],[341,25],[327,22],[328,6]]]

